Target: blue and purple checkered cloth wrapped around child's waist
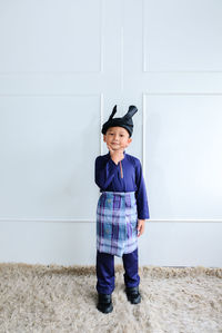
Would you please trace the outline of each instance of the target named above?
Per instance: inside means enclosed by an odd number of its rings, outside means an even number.
[[[97,249],[122,256],[138,247],[134,192],[103,192],[97,207]]]

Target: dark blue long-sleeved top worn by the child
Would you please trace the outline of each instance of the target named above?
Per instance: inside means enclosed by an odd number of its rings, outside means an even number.
[[[112,160],[110,151],[95,158],[95,184],[100,187],[100,192],[134,192],[138,218],[148,219],[150,213],[140,159],[125,151],[123,154],[124,158],[118,165]]]

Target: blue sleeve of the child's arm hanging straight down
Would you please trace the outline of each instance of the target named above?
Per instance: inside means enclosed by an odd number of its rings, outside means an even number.
[[[148,196],[147,196],[145,183],[142,174],[142,166],[139,159],[137,160],[137,167],[135,167],[135,183],[138,187],[135,192],[135,198],[138,205],[138,218],[148,219],[150,218]]]

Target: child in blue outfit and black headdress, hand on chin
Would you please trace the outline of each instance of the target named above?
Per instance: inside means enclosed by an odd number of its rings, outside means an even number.
[[[113,108],[102,127],[109,153],[95,158],[95,184],[102,193],[97,207],[97,307],[102,313],[113,310],[114,255],[123,259],[128,301],[141,302],[138,237],[150,214],[141,163],[124,150],[132,141],[137,111],[130,106],[125,116],[113,118],[117,106]]]

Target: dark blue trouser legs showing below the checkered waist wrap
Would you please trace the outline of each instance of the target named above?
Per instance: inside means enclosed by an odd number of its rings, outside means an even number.
[[[124,283],[127,287],[140,284],[138,275],[138,248],[123,254]],[[99,294],[111,294],[114,290],[114,255],[97,252],[97,291]]]

